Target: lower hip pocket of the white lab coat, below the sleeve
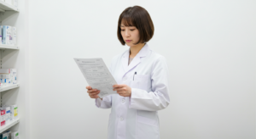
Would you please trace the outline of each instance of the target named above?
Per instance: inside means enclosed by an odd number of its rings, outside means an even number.
[[[137,115],[137,139],[159,139],[159,137],[157,121]]]

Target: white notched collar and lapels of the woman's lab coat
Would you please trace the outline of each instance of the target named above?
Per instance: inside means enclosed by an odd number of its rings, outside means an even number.
[[[122,56],[122,64],[123,68],[125,69],[125,74],[137,66],[137,64],[141,63],[141,58],[145,57],[149,51],[148,44],[146,43],[144,47],[140,50],[139,53],[132,59],[131,63],[128,65],[129,55],[130,55],[130,48],[123,54]],[[124,74],[124,75],[125,75]]]

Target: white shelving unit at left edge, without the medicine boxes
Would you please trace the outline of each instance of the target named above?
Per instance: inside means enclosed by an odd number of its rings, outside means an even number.
[[[9,3],[5,3],[3,1],[0,0],[0,13],[3,13],[5,15],[5,17],[8,17],[9,14],[7,13],[8,11],[15,11],[15,12],[19,12],[19,8],[16,8],[13,5],[10,5]],[[5,18],[1,18],[0,19],[0,24],[2,25],[3,22],[5,21]],[[0,68],[3,68],[3,53],[5,53],[7,50],[20,50],[20,47],[18,46],[10,46],[10,45],[4,45],[4,44],[0,44]],[[9,60],[9,57],[8,57]],[[4,60],[4,62],[6,62],[6,58]],[[8,68],[14,68],[14,67],[8,67]],[[9,86],[0,86],[0,105],[2,107],[3,105],[3,93],[2,92],[7,92],[11,89],[15,89],[20,87],[20,84],[14,84],[14,85],[9,85]],[[12,126],[18,124],[20,122],[20,118],[17,118],[15,120],[11,120],[8,124],[0,126],[0,133],[3,133],[3,131],[8,130],[9,128],[11,128]]]

